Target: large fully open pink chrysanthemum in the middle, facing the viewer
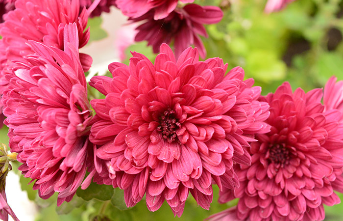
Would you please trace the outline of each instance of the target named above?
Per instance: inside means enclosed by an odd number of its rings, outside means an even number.
[[[98,183],[123,189],[129,207],[146,194],[150,211],[167,200],[181,216],[189,192],[209,209],[212,180],[239,186],[232,166],[250,164],[242,146],[269,131],[269,106],[257,101],[261,88],[243,80],[242,68],[225,75],[227,64],[198,61],[197,49],[177,60],[168,45],[160,50],[155,64],[134,52],[129,66],[109,65],[113,79],[91,79],[106,98],[91,101],[97,121],[90,140],[102,159],[96,166],[106,165]]]

